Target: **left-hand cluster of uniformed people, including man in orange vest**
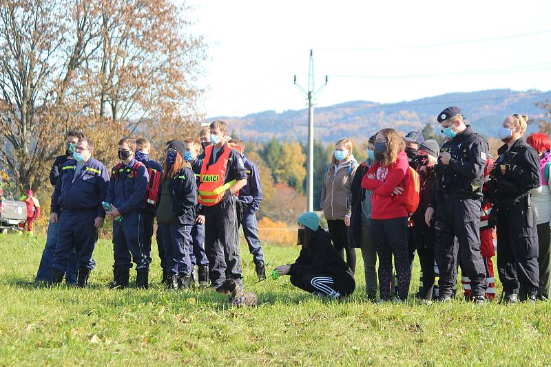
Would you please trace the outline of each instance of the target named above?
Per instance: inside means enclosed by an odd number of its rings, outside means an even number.
[[[112,289],[129,285],[132,263],[136,286],[149,286],[155,221],[167,289],[218,289],[230,278],[242,287],[239,227],[258,278],[265,278],[256,221],[258,168],[245,157],[245,143],[228,136],[225,122],[212,122],[199,135],[167,142],[162,163],[149,157],[145,137],[123,137],[119,162],[107,170],[93,158],[90,138],[68,133],[65,155],[50,173],[50,224],[35,280],[58,285],[65,278],[86,287],[106,216],[113,223]]]

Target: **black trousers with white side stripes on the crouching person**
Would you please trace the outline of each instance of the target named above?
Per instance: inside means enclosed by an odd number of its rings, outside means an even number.
[[[309,293],[333,298],[348,296],[356,287],[353,278],[341,278],[329,274],[291,276],[291,284]]]

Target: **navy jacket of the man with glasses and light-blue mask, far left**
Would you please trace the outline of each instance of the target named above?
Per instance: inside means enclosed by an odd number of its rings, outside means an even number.
[[[105,217],[101,202],[107,190],[107,168],[94,158],[88,159],[83,168],[74,177],[76,160],[71,159],[63,167],[56,188],[52,194],[52,213],[61,210],[96,209],[96,216]],[[74,181],[73,181],[74,177]]]

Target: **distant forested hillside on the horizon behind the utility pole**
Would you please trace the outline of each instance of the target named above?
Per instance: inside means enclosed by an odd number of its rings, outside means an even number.
[[[448,93],[408,102],[380,104],[353,101],[315,109],[315,139],[331,142],[340,137],[369,136],[384,127],[393,126],[406,132],[435,123],[437,113],[457,105],[475,130],[495,135],[503,118],[510,113],[528,113],[531,119],[543,118],[535,104],[551,100],[551,91],[512,91],[492,89],[470,93]],[[241,118],[220,116],[229,122],[231,131],[245,140],[265,141],[275,136],[305,141],[308,133],[308,111],[289,110],[282,113],[264,111]],[[529,131],[534,131],[530,126]]]

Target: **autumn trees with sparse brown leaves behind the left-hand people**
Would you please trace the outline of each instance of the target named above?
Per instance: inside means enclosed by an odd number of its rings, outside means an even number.
[[[160,147],[198,126],[206,48],[185,5],[0,1],[0,158],[21,190],[41,186],[70,129],[110,165],[123,135]]]

